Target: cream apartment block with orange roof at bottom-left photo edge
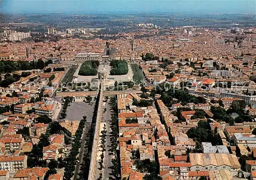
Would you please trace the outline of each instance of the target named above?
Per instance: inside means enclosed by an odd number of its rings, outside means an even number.
[[[9,173],[17,172],[20,169],[27,168],[27,156],[0,156],[0,170],[7,170]]]

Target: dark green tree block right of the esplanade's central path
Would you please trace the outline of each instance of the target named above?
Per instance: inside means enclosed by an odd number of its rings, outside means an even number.
[[[125,60],[112,60],[110,62],[112,70],[110,70],[111,75],[124,75],[128,73],[128,64]]]

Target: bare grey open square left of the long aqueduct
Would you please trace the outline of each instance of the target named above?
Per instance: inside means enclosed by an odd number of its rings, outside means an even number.
[[[67,108],[66,119],[75,121],[75,120],[81,120],[83,116],[87,116],[87,122],[92,122],[94,106],[95,106],[95,101],[92,101],[91,103],[72,102],[71,106]]]

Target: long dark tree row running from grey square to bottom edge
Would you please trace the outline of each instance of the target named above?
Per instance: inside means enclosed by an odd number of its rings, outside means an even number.
[[[76,157],[79,153],[79,148],[81,146],[81,137],[82,137],[83,128],[86,125],[86,121],[87,121],[86,119],[87,117],[83,116],[82,120],[79,122],[70,154],[65,158],[65,161],[67,162],[65,167],[65,173],[64,173],[65,179],[71,179],[74,175],[75,165],[77,163]]]

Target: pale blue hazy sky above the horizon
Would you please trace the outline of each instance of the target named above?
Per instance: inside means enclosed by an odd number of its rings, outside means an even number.
[[[256,13],[256,0],[0,0],[0,12]]]

